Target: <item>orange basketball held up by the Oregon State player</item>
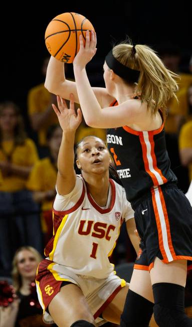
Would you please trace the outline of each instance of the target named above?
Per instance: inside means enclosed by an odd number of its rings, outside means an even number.
[[[86,31],[93,30],[93,25],[82,15],[64,13],[56,16],[45,32],[45,44],[49,53],[65,63],[72,63],[79,51],[79,36],[83,35],[85,44]]]

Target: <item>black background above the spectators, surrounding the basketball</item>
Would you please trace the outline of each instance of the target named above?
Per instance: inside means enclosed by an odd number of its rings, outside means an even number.
[[[80,2],[77,5],[76,2],[49,3],[41,0],[23,5],[4,3],[6,8],[0,18],[0,100],[12,99],[26,111],[28,90],[44,79],[41,75],[42,60],[49,55],[44,42],[46,27],[55,16],[68,11],[87,17],[97,32],[98,50],[88,72],[93,70],[94,62],[102,65],[112,42],[123,40],[126,35],[133,43],[145,43],[154,49],[164,42],[178,45],[182,52],[181,65],[187,70],[192,53],[189,3],[112,1]],[[100,71],[97,80],[102,79],[102,69]]]

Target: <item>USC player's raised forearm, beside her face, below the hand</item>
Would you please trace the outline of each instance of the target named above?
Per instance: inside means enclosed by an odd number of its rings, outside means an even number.
[[[58,154],[58,172],[63,178],[69,178],[74,173],[74,132],[63,132]]]

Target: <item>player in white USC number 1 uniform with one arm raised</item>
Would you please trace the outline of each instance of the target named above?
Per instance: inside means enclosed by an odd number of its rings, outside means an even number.
[[[123,220],[138,250],[134,212],[122,186],[109,180],[110,155],[100,138],[87,136],[77,145],[76,163],[82,176],[76,176],[73,148],[81,112],[78,109],[76,116],[73,98],[70,109],[59,97],[59,110],[53,107],[63,138],[53,206],[54,236],[36,279],[44,320],[54,320],[58,326],[91,327],[102,313],[104,319],[119,323],[128,284],[115,275],[108,256]]]

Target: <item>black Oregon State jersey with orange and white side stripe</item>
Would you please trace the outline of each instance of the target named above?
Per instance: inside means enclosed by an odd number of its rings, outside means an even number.
[[[109,128],[107,144],[128,201],[138,199],[152,186],[177,181],[170,170],[164,124],[153,131]]]

